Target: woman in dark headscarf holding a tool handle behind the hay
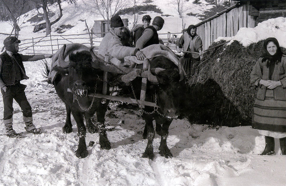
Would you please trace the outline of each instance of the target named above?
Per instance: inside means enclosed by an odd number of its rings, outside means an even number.
[[[195,53],[184,53],[183,57],[180,58],[181,64],[183,65],[188,77],[194,75],[195,73],[195,63],[200,61],[200,56],[202,55],[203,43],[198,36],[197,28],[195,25],[190,25],[178,41],[176,41],[176,49],[178,52],[183,49],[183,51],[198,52]]]

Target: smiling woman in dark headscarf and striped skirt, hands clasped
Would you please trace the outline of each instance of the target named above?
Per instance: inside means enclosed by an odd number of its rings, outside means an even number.
[[[286,56],[276,38],[264,41],[264,54],[250,74],[250,83],[258,87],[252,110],[252,128],[265,136],[265,149],[260,155],[274,154],[274,138],[279,138],[286,154]]]

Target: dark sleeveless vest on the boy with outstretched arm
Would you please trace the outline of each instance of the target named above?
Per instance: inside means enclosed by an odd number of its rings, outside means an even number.
[[[16,69],[20,69],[21,73],[21,78],[18,80],[24,80],[24,79],[29,79],[29,77],[26,75],[25,68],[22,62],[22,58],[20,54],[13,54],[13,58],[11,58],[7,52],[3,52],[0,55],[1,61],[2,61],[2,72],[1,72],[1,78],[3,82],[8,85],[14,85],[16,82],[15,77],[16,77]],[[16,60],[16,61],[15,61]],[[16,66],[17,65],[17,66]]]

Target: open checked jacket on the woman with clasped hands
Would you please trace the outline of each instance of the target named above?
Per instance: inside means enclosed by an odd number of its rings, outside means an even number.
[[[258,86],[257,99],[264,100],[267,87],[260,85],[260,80],[280,81],[282,86],[277,86],[274,91],[274,100],[286,101],[286,56],[283,55],[281,62],[275,64],[271,79],[269,79],[269,68],[266,66],[267,61],[262,63],[262,58],[259,58],[254,65],[250,74],[250,83]]]

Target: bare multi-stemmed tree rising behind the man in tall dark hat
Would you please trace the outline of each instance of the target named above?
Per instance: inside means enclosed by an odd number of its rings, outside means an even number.
[[[110,25],[110,18],[114,16],[119,10],[125,8],[128,4],[128,1],[126,0],[90,0],[90,2],[96,10],[94,13],[101,15],[106,22],[108,30]]]

